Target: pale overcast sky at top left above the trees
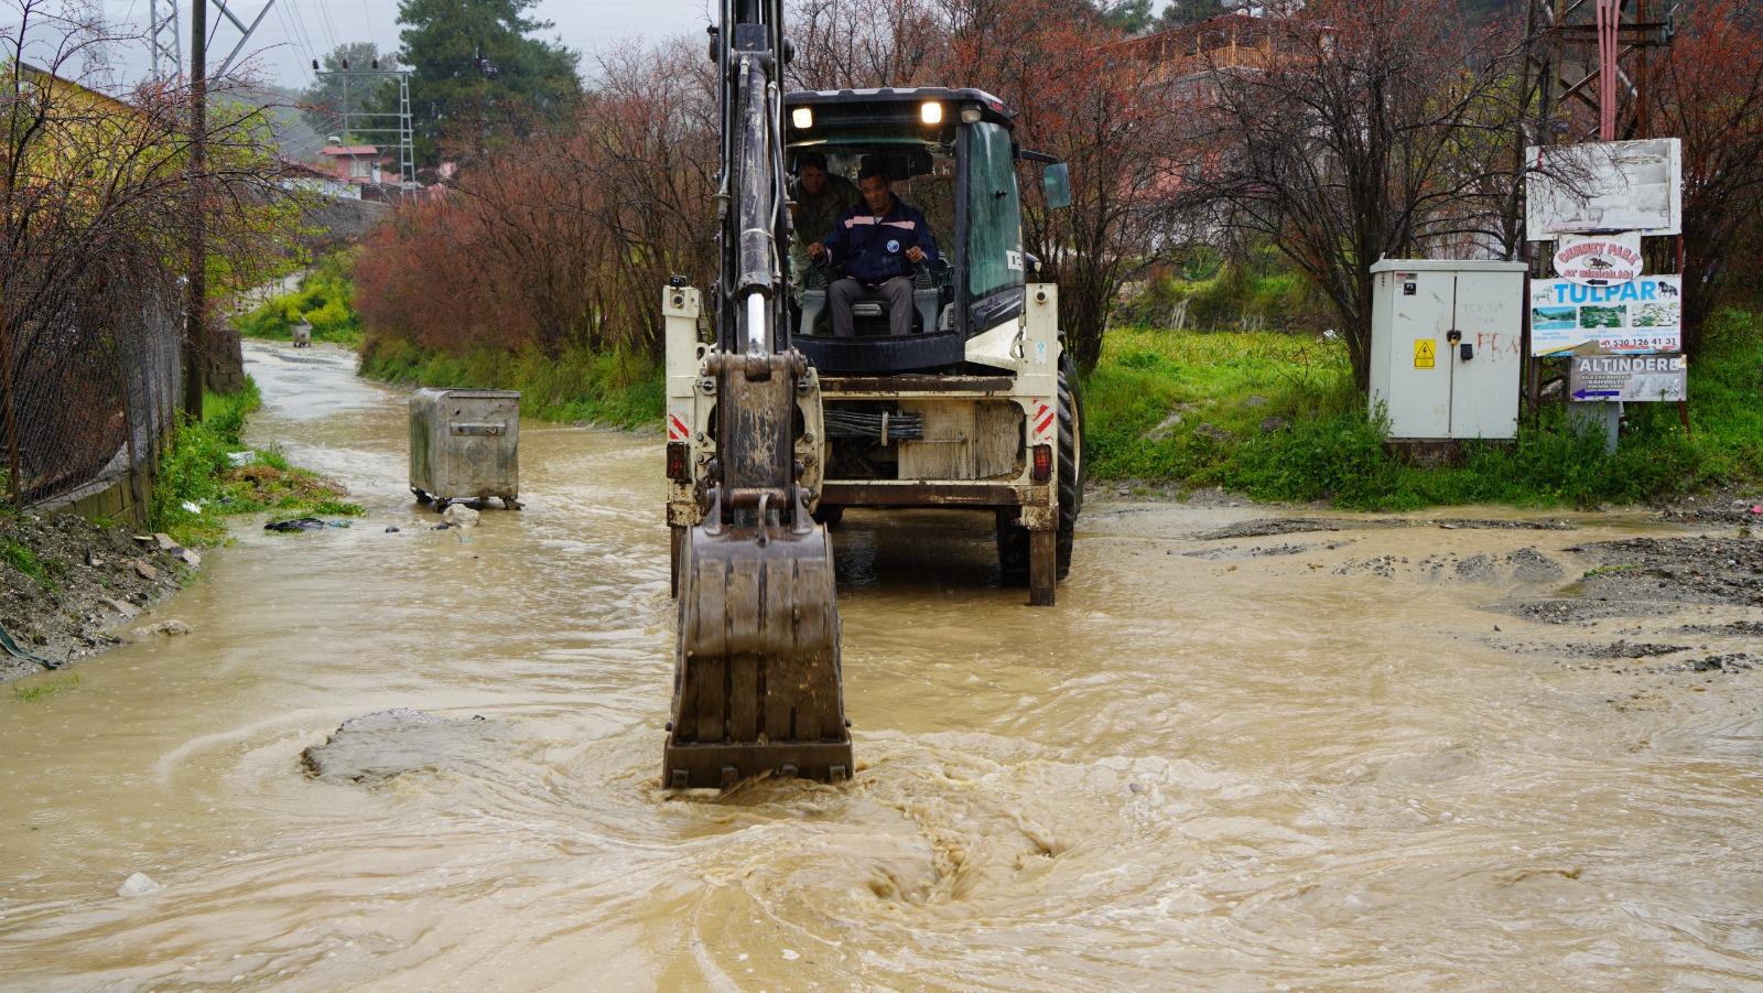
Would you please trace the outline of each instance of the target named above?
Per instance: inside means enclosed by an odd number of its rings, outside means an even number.
[[[63,0],[46,0],[56,9]],[[74,0],[100,12],[111,32],[145,35],[152,0]],[[226,0],[233,14],[250,25],[264,9],[264,0]],[[183,18],[183,51],[189,55],[190,0],[178,4]],[[707,0],[539,0],[536,19],[554,21],[543,37],[561,39],[582,53],[582,71],[594,74],[594,56],[619,44],[659,39],[684,32],[702,32],[709,23]],[[0,0],[0,25],[16,34],[19,0]],[[213,28],[210,65],[219,65],[240,39],[238,28],[208,7]],[[312,83],[312,60],[351,41],[372,41],[383,51],[398,48],[397,0],[275,0],[245,53],[272,81],[303,88]],[[42,58],[41,49],[37,58]],[[113,85],[129,86],[148,71],[146,44],[139,41],[109,46]]]

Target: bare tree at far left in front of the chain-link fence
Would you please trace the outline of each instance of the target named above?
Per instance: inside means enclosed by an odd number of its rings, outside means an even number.
[[[14,501],[116,452],[120,342],[152,312],[175,317],[192,203],[212,217],[208,258],[226,272],[268,250],[282,201],[259,109],[217,108],[194,173],[187,90],[86,86],[85,51],[118,39],[42,0],[18,11],[0,28],[0,429]]]

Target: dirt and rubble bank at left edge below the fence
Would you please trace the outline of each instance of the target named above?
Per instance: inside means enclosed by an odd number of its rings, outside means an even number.
[[[0,511],[0,628],[19,651],[55,667],[120,644],[143,610],[194,571],[182,549],[136,534],[81,517]],[[0,649],[0,683],[44,668]]]

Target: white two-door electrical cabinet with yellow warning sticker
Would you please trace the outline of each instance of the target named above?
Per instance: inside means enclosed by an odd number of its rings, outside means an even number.
[[[1523,263],[1373,265],[1372,413],[1389,437],[1516,437],[1523,307]]]

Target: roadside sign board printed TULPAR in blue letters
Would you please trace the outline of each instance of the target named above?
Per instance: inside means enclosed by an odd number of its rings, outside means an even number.
[[[1684,277],[1643,275],[1615,286],[1530,282],[1530,355],[1650,355],[1684,349]]]

